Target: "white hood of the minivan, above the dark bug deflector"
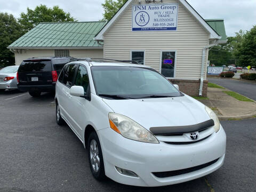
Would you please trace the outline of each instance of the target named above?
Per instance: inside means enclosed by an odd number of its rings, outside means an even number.
[[[205,106],[188,95],[174,98],[103,101],[115,113],[133,119],[147,130],[159,126],[193,125],[210,119]]]

